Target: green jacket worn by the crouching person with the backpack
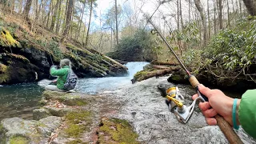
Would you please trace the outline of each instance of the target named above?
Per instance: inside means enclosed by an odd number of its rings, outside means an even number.
[[[52,67],[50,69],[50,74],[53,76],[58,76],[57,87],[60,90],[64,90],[64,84],[66,82],[67,74],[69,73],[70,66],[63,66],[61,69],[56,69]]]

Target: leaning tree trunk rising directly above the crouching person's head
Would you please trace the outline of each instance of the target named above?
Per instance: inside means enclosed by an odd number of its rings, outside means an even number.
[[[67,11],[66,11],[66,26],[65,26],[65,30],[62,34],[61,42],[64,42],[64,40],[66,39],[66,36],[69,34],[70,21],[71,21],[71,17],[72,17],[72,9],[73,9],[73,0],[69,0],[69,4],[67,7]]]

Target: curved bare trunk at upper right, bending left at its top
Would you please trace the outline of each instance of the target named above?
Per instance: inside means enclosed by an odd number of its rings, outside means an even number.
[[[206,16],[203,12],[202,4],[201,4],[200,0],[194,0],[194,3],[199,11],[200,16],[201,16],[202,26],[203,26],[203,46],[206,46],[206,41],[207,41],[207,38],[206,38],[207,37]]]

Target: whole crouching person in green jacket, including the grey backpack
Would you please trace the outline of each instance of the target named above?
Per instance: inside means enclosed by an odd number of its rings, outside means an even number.
[[[50,74],[52,76],[58,76],[58,79],[57,81],[50,82],[45,89],[60,92],[73,90],[77,84],[78,77],[71,69],[70,60],[67,58],[62,59],[59,66],[61,67],[60,69],[57,69],[57,66],[50,67]]]

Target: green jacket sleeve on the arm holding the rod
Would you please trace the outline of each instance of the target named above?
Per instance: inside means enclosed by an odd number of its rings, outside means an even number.
[[[256,139],[256,90],[247,90],[245,94],[242,94],[238,118],[243,130]]]

